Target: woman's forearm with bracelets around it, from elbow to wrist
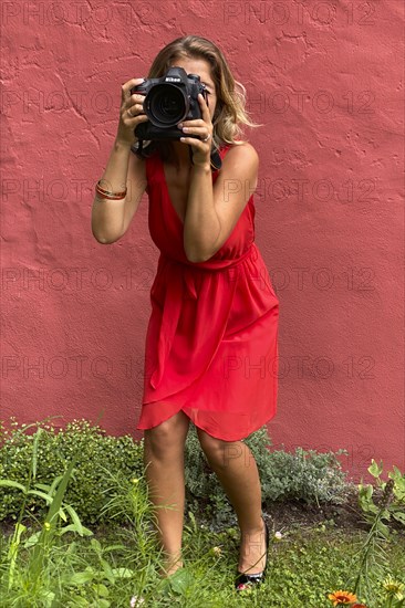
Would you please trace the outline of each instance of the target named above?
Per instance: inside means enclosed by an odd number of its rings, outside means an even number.
[[[131,146],[115,140],[105,171],[101,177],[101,187],[111,192],[125,190],[128,174]],[[92,207],[92,232],[101,243],[114,242],[123,233],[125,198],[121,200],[102,199],[95,195]]]

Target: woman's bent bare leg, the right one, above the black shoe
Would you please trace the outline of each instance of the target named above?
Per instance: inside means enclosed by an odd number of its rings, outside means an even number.
[[[261,486],[253,454],[242,441],[221,441],[201,429],[198,439],[238,517],[241,532],[239,572],[257,574],[266,566]],[[263,557],[264,556],[264,557]]]

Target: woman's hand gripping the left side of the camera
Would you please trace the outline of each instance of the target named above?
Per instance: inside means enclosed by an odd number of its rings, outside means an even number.
[[[127,81],[121,87],[122,103],[116,141],[129,146],[138,140],[134,134],[135,127],[139,123],[148,120],[143,107],[145,96],[141,93],[131,95],[131,88],[144,82],[144,80],[145,78],[131,78],[131,81]]]

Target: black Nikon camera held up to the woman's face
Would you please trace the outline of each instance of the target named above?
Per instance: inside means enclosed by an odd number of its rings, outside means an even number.
[[[134,93],[145,95],[144,112],[149,120],[138,124],[134,133],[146,140],[179,139],[184,134],[178,123],[202,117],[198,94],[206,103],[208,99],[200,77],[187,74],[183,67],[169,67],[160,78],[146,78],[131,90],[131,95]],[[198,139],[197,135],[187,137]]]

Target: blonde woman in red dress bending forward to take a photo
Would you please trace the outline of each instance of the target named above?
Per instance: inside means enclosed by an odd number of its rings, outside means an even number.
[[[143,95],[131,90],[143,78],[122,86],[117,135],[96,187],[92,231],[101,243],[121,239],[146,189],[149,231],[160,255],[150,290],[137,429],[145,431],[150,497],[160,506],[160,574],[183,566],[184,445],[191,420],[237,514],[236,588],[241,590],[260,583],[267,566],[260,480],[243,438],[276,413],[279,301],[253,242],[259,160],[239,139],[240,125],[255,126],[245,111],[245,88],[221,51],[200,36],[165,46],[148,77],[173,66],[198,74],[205,84],[208,99],[198,97],[201,118],[179,124],[180,139],[149,141],[139,153],[134,129],[148,118]],[[222,160],[214,171],[212,150]]]

